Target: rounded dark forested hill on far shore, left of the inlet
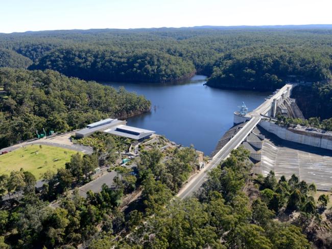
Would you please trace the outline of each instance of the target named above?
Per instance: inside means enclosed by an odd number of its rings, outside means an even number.
[[[99,81],[178,82],[193,76],[193,63],[149,49],[123,52],[104,47],[59,48],[30,69],[54,69],[66,76]]]

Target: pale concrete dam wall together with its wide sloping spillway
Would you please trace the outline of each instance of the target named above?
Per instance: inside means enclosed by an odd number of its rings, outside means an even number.
[[[285,85],[252,112],[234,112],[234,127],[220,139],[212,155],[217,155],[258,112],[257,125],[241,143],[250,151],[254,172],[266,176],[273,170],[276,177],[285,176],[287,179],[295,174],[301,181],[315,183],[319,190],[330,190],[332,133],[300,125],[284,127],[277,124],[277,114],[304,119],[295,99],[290,97],[293,87],[296,85]]]

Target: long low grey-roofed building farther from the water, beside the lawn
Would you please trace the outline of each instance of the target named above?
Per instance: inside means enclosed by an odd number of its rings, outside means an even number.
[[[126,123],[127,123],[126,120],[108,118],[105,120],[88,124],[85,129],[75,132],[75,136],[77,138],[88,137],[95,132],[103,132],[112,127],[120,126],[121,124],[125,125]]]

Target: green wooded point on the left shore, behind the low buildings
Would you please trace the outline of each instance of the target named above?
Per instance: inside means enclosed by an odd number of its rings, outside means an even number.
[[[144,96],[68,78],[53,70],[0,68],[0,148],[36,137],[36,131],[64,132],[106,117],[126,118],[150,110]]]

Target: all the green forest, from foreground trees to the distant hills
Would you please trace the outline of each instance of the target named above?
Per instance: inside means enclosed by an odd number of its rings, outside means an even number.
[[[330,130],[331,44],[327,29],[0,34],[0,147],[36,130],[64,132],[151,108],[144,96],[94,81],[176,83],[195,73],[206,75],[208,86],[231,89],[271,91],[299,82],[293,94],[308,120],[278,121]],[[329,195],[296,175],[254,175],[241,146],[181,201],[175,195],[197,172],[194,147],[141,148],[133,174],[114,163],[130,142],[105,134],[75,142],[94,153],[46,172],[41,191],[23,169],[0,175],[0,248],[332,248]],[[113,186],[82,197],[78,187],[106,164],[117,172]],[[133,193],[139,197],[126,206]]]

